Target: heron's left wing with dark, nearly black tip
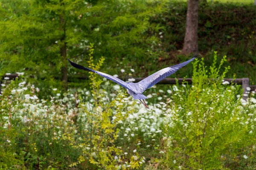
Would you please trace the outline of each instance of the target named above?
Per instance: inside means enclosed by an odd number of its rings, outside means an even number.
[[[124,82],[124,81],[120,80],[119,78],[113,77],[113,76],[111,76],[109,74],[102,73],[100,71],[95,71],[95,70],[92,70],[90,68],[86,68],[86,67],[84,67],[82,65],[79,65],[79,64],[76,64],[75,62],[70,61],[69,59],[68,59],[68,61],[75,68],[78,68],[78,69],[81,69],[81,70],[85,70],[85,71],[92,71],[93,73],[99,74],[100,76],[105,77],[106,79],[110,79],[113,82],[116,82],[117,84],[121,85],[122,87],[127,88],[127,89],[132,91],[132,87],[127,82]]]

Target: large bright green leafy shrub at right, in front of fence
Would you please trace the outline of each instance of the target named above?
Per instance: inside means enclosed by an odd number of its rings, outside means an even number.
[[[239,86],[222,85],[227,84],[223,78],[230,69],[226,67],[219,74],[226,56],[218,67],[216,60],[215,52],[209,71],[203,59],[196,60],[192,87],[184,84],[174,88],[170,102],[172,123],[167,128],[171,169],[236,169],[241,162],[255,164],[254,156],[249,160],[243,157],[255,144],[254,114],[242,107]],[[239,165],[231,163],[233,156]]]

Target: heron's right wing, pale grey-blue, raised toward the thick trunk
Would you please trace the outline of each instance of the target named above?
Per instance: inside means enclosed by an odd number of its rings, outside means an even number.
[[[189,62],[192,62],[196,57],[198,57],[198,55],[195,55],[192,59],[189,59],[188,61],[182,62],[180,64],[163,68],[162,70],[157,71],[154,74],[151,74],[150,76],[146,77],[140,82],[137,82],[136,85],[140,87],[140,93],[157,84],[157,82],[160,82],[162,79],[174,74],[180,68],[187,65]]]

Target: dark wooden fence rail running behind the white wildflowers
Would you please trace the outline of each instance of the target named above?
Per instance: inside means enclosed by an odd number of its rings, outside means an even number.
[[[4,77],[9,77],[9,80],[11,79],[15,79],[16,77],[19,77],[18,74],[9,74],[9,75],[4,75]],[[34,78],[34,76],[30,76],[31,78]],[[59,77],[55,77],[55,79],[59,79]],[[73,82],[74,79],[88,79],[88,77],[68,77],[68,82]],[[122,78],[120,78],[122,79]],[[141,80],[143,80],[144,78],[134,78],[135,81],[134,82],[140,82]],[[188,82],[188,84],[192,84],[192,78],[176,78],[178,80],[179,84],[182,84],[183,81]],[[176,79],[175,78],[165,78],[162,81],[158,82],[157,84],[168,84],[168,85],[175,85],[176,84]],[[127,81],[127,79],[122,79],[124,81]],[[210,81],[211,79],[209,79]],[[230,84],[233,82],[237,85],[242,85],[242,88],[244,89],[244,94],[246,94],[247,92],[247,88],[250,87],[251,91],[255,91],[256,90],[256,85],[250,85],[249,78],[241,78],[241,79],[224,79],[225,81],[229,82]],[[0,80],[0,91],[1,91],[1,80]],[[247,99],[247,96],[243,96],[244,99]]]

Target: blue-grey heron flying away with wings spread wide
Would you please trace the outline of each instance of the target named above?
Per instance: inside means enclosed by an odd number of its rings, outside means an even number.
[[[78,69],[85,70],[85,71],[92,71],[93,73],[99,74],[102,77],[105,77],[107,79],[112,80],[113,82],[116,82],[117,84],[121,85],[122,87],[127,89],[128,94],[133,96],[134,99],[139,99],[140,102],[145,106],[145,108],[149,109],[148,105],[146,104],[144,99],[148,99],[148,97],[144,96],[142,93],[147,90],[148,88],[151,88],[153,85],[157,84],[157,82],[160,82],[162,79],[174,74],[176,71],[178,71],[183,66],[187,65],[189,62],[192,62],[198,55],[195,55],[192,59],[189,59],[186,62],[182,62],[177,65],[173,65],[171,67],[163,68],[160,71],[155,72],[154,74],[146,77],[145,79],[141,80],[140,82],[133,83],[133,82],[124,82],[121,79],[117,77],[113,77],[109,74],[102,73],[100,71],[95,71],[90,68],[86,68],[82,65],[76,64],[75,62],[72,62],[68,59],[70,64]]]

